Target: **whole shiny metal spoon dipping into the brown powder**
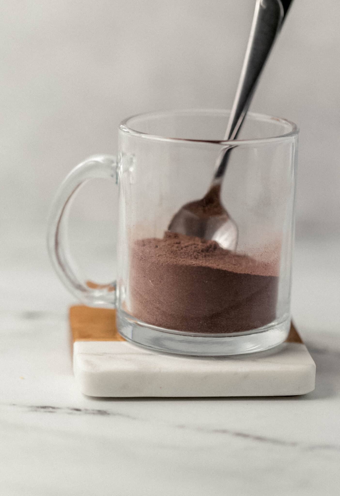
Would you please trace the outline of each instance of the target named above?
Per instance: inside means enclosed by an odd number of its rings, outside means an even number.
[[[292,0],[257,0],[249,41],[230,113],[225,140],[236,139],[259,76],[283,25]],[[168,230],[187,236],[217,241],[222,248],[236,249],[238,230],[220,199],[221,186],[233,145],[221,151],[214,178],[207,194],[200,200],[186,203],[172,217]]]

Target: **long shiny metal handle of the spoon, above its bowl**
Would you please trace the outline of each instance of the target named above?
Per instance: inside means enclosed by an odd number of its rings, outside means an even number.
[[[253,22],[225,140],[236,139],[249,108],[259,76],[274,45],[292,0],[256,0]],[[213,184],[221,183],[229,150],[219,158]]]

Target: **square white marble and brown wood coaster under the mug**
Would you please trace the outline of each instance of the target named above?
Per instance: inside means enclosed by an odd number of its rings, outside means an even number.
[[[118,334],[115,310],[71,307],[70,328],[75,379],[88,396],[290,396],[315,387],[315,363],[293,325],[273,350],[226,358],[134,346]]]

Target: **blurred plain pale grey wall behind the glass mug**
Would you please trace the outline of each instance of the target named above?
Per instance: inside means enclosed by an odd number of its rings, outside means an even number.
[[[230,107],[254,9],[253,0],[0,5],[0,216],[18,226],[45,222],[76,163],[116,151],[124,117]],[[331,233],[340,219],[339,16],[336,0],[294,2],[252,104],[301,129],[298,236]],[[101,187],[91,206],[75,207],[85,220],[112,215],[111,186]]]

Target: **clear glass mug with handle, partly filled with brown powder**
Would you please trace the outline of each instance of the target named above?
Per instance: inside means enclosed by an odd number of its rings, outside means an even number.
[[[227,111],[150,113],[119,125],[119,152],[85,160],[52,206],[48,245],[65,286],[84,304],[116,308],[119,333],[154,350],[234,355],[272,348],[290,328],[298,129],[249,113],[223,141]],[[221,201],[238,230],[234,250],[167,232],[173,215],[202,198],[217,157],[232,145]],[[117,278],[91,286],[76,276],[66,212],[93,178],[118,186]]]

